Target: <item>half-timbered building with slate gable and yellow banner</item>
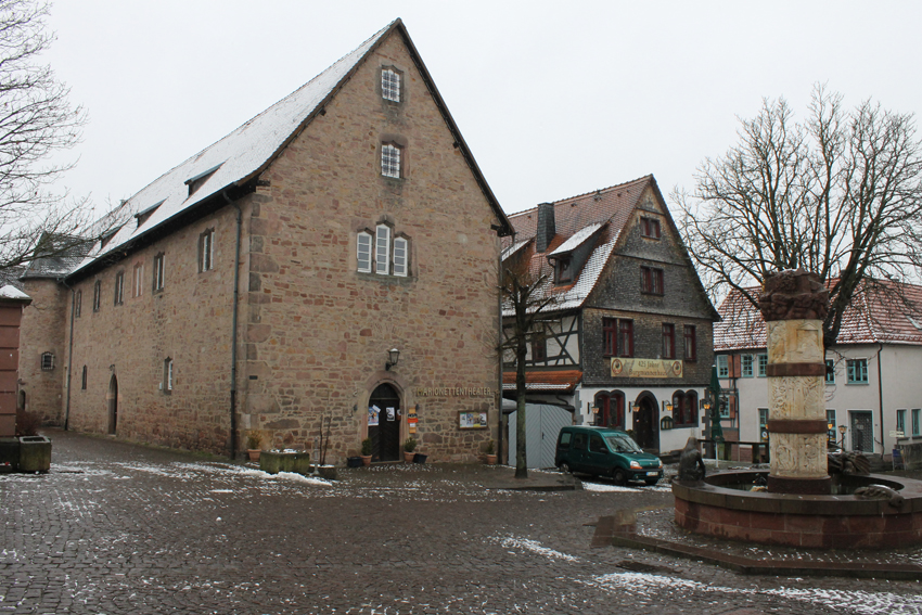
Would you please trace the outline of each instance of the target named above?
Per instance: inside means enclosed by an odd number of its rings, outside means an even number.
[[[577,424],[632,430],[650,450],[680,449],[701,436],[718,317],[653,176],[545,203],[510,221],[504,267],[527,262],[547,276],[542,293],[554,299],[541,318],[547,337],[528,349],[528,401],[559,406]],[[503,316],[508,337],[512,315]],[[514,362],[505,359],[511,397]]]

